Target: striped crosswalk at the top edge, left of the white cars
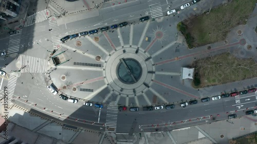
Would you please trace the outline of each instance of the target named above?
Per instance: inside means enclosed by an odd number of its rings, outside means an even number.
[[[163,16],[160,0],[148,0],[152,18]]]

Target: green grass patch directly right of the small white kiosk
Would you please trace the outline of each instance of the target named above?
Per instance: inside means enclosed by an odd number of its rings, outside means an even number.
[[[230,53],[198,59],[195,68],[194,88],[222,85],[257,77],[257,63],[252,58],[240,59]]]

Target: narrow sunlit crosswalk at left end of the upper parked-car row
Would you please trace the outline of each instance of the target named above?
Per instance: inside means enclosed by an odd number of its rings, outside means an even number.
[[[60,28],[57,25],[56,20],[49,20],[48,22],[49,22],[49,28],[52,29],[50,33],[51,33],[53,48],[54,49],[59,48],[59,44],[62,43],[60,40],[62,38],[62,35],[60,34]]]

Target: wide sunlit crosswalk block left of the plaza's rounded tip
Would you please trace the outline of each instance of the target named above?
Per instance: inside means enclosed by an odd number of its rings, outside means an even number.
[[[47,71],[47,60],[20,54],[21,73],[44,73]]]

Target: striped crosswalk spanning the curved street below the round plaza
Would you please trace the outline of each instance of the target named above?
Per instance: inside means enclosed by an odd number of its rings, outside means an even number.
[[[108,106],[106,112],[105,131],[116,132],[118,107]]]

